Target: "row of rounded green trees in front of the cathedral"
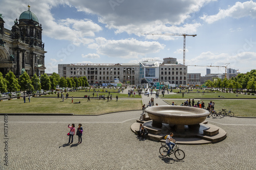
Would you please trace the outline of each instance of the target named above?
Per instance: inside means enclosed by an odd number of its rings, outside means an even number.
[[[56,89],[59,85],[61,88],[76,88],[76,87],[87,87],[89,86],[87,82],[87,77],[79,78],[64,78],[59,77],[56,72],[53,72],[51,76],[44,75],[40,76],[40,79],[36,74],[30,78],[25,71],[19,78],[16,78],[12,71],[9,71],[5,78],[2,72],[0,72],[0,91],[4,92],[14,92],[14,91],[35,91],[35,90],[50,90]]]

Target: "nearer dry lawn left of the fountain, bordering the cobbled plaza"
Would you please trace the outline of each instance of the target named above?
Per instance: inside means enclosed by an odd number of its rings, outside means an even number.
[[[137,110],[141,109],[142,100],[118,100],[114,98],[111,102],[91,99],[74,99],[74,102],[80,104],[71,104],[71,98],[62,102],[55,98],[31,98],[31,102],[24,103],[23,99],[11,101],[2,101],[1,113],[74,113],[74,114],[101,114],[115,111]]]

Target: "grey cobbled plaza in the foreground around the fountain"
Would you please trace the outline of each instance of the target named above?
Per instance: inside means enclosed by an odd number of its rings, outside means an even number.
[[[255,169],[255,118],[207,118],[227,132],[215,144],[179,145],[186,156],[161,157],[160,143],[140,140],[130,130],[141,111],[100,116],[9,116],[8,164],[2,169]],[[4,127],[4,116],[1,116]],[[82,143],[68,143],[68,124],[82,124]],[[3,128],[2,128],[3,129]],[[3,132],[2,132],[3,133]],[[0,168],[0,169],[1,169]]]

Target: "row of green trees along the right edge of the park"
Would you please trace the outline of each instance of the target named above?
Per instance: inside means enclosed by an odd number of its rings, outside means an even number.
[[[207,80],[205,82],[205,86],[209,88],[229,88],[229,89],[244,89],[253,90],[256,89],[256,70],[252,69],[250,72],[246,74],[239,74],[237,77],[232,77],[231,79],[227,80],[215,78],[214,81]]]

